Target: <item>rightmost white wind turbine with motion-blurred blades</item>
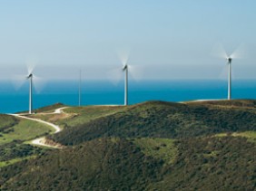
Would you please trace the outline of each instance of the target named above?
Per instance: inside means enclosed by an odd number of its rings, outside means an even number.
[[[242,44],[239,46],[233,53],[230,55],[226,53],[226,51],[223,49],[222,44],[218,44],[218,50],[217,55],[219,57],[224,58],[227,61],[228,64],[228,100],[231,100],[231,62],[233,59],[241,59],[244,56],[244,45]]]

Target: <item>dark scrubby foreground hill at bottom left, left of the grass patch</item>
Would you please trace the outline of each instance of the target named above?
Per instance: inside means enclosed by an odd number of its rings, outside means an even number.
[[[157,179],[161,163],[144,156],[131,141],[103,138],[48,152],[23,166],[29,173],[18,173],[3,190],[143,190]],[[3,171],[8,177],[7,168]]]

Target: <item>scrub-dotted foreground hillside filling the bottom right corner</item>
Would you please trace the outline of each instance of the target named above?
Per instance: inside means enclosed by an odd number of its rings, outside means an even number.
[[[190,138],[156,190],[253,190],[256,145],[246,138]]]

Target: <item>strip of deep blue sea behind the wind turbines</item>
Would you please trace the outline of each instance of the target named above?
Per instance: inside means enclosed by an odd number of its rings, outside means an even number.
[[[36,84],[34,84],[36,87]],[[227,98],[227,81],[222,80],[147,80],[129,81],[129,104],[147,100],[187,101]],[[46,81],[40,91],[33,89],[34,109],[64,103],[79,104],[79,81]],[[123,104],[123,81],[82,81],[81,104]],[[232,99],[256,99],[256,80],[232,81]],[[0,81],[0,113],[15,113],[28,110],[29,84],[19,89],[11,81]]]

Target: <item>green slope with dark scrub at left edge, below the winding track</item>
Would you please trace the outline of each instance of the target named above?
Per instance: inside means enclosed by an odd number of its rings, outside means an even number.
[[[42,148],[28,145],[33,138],[47,135],[53,129],[44,124],[20,119],[9,115],[0,115],[0,167],[14,164],[44,152]]]

